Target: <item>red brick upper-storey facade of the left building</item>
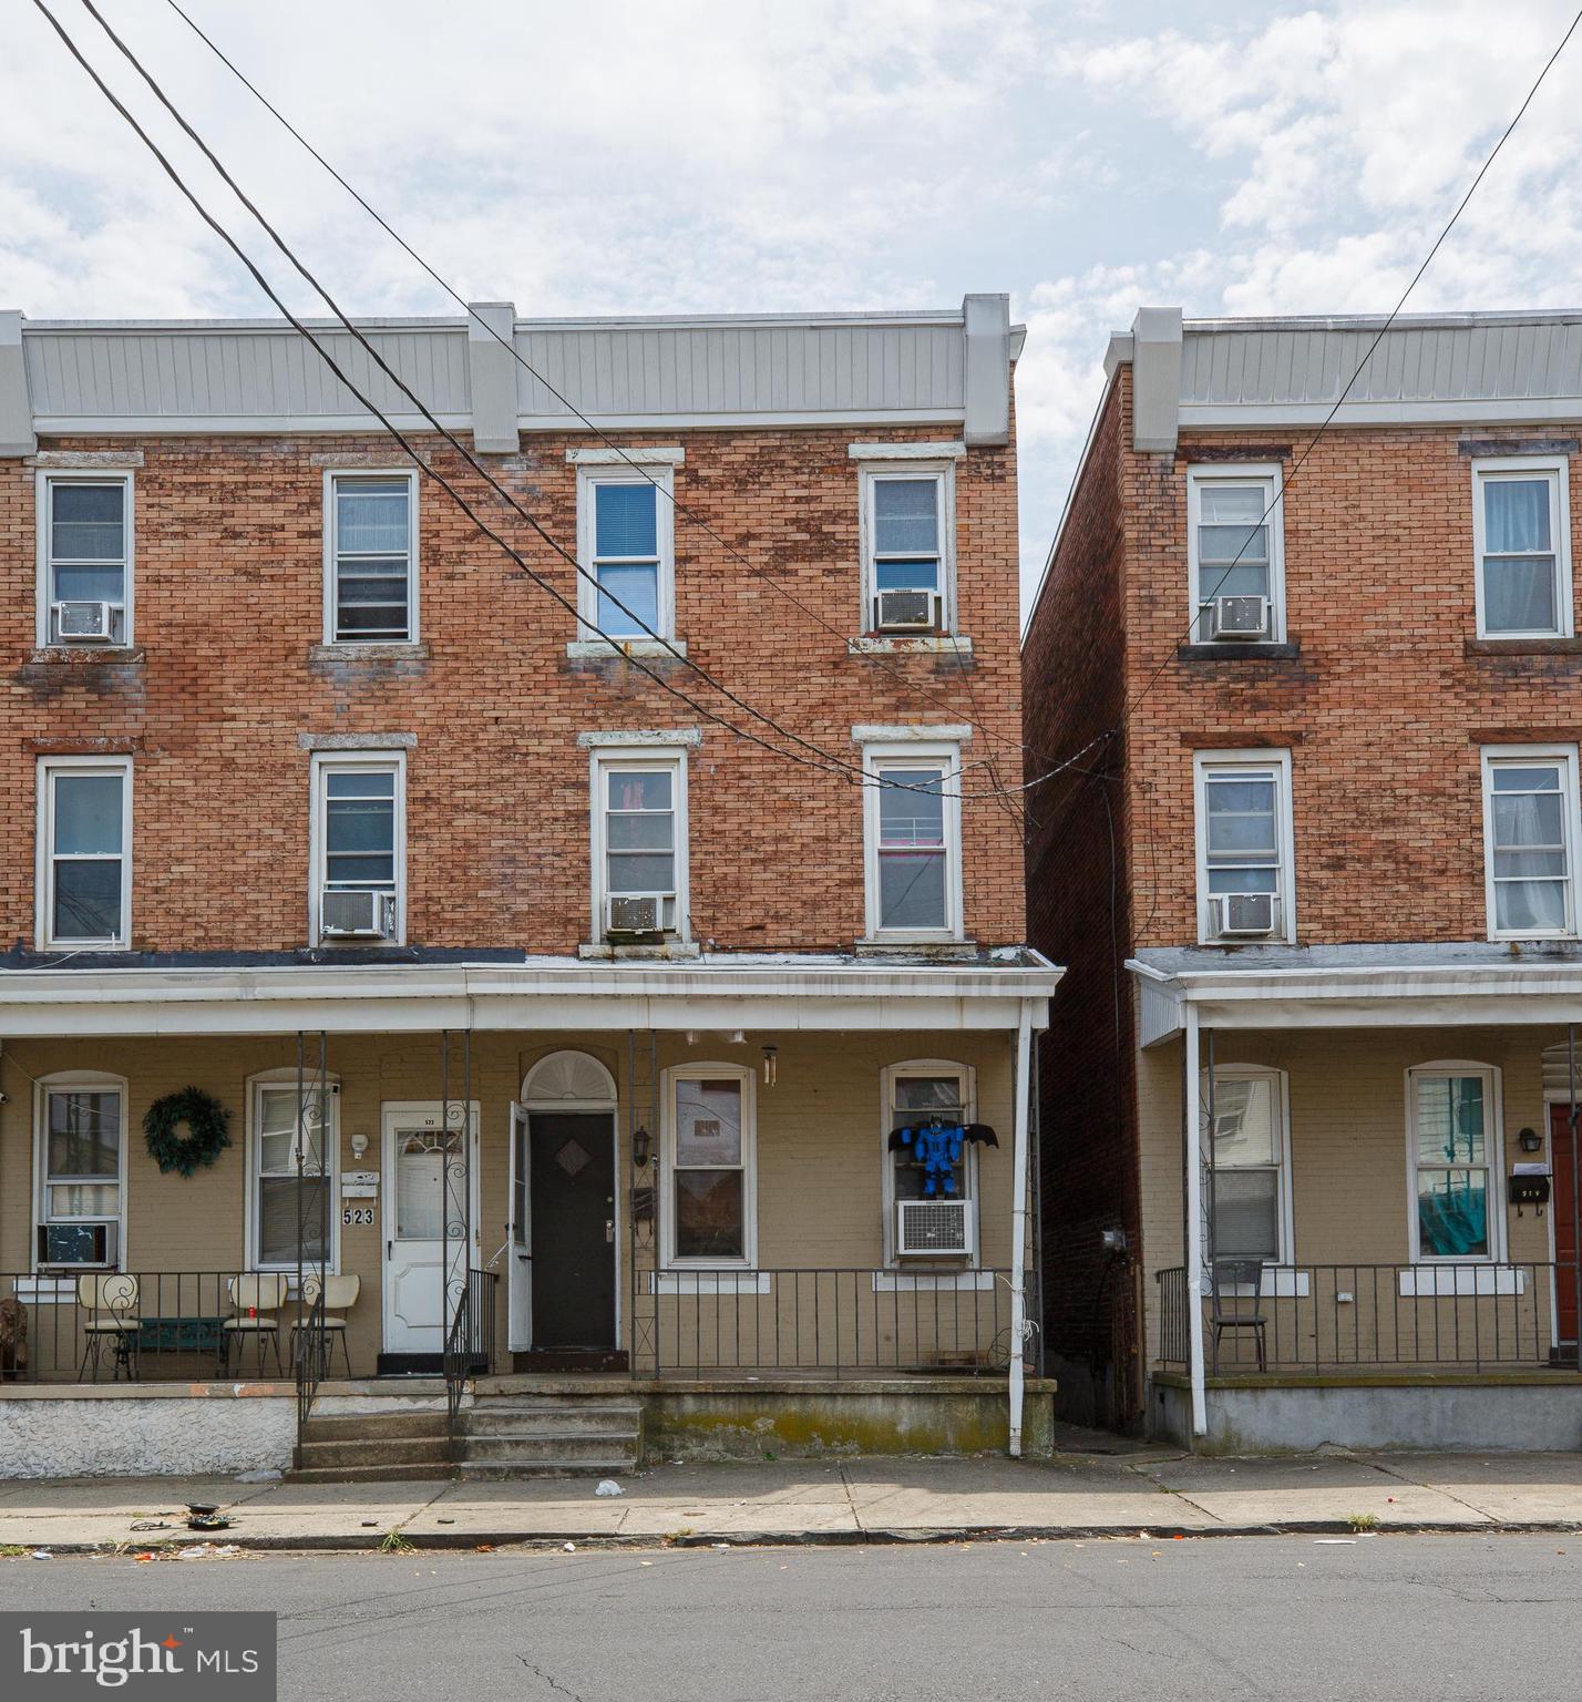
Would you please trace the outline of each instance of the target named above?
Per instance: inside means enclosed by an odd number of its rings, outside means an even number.
[[[954,659],[845,652],[857,628],[857,470],[851,431],[665,432],[684,443],[675,494],[837,628],[837,638],[677,516],[677,628],[689,655],[803,737],[861,762],[859,722],[982,718],[1021,735],[1016,449],[956,470],[961,630]],[[864,439],[874,434],[864,431]],[[879,434],[885,436],[885,434]],[[896,439],[934,432],[891,432]],[[575,546],[572,437],[532,437],[504,482]],[[139,449],[136,648],[126,665],[29,660],[34,470],[0,463],[0,642],[9,734],[0,797],[0,941],[34,938],[36,754],[133,749],[133,945],[304,945],[308,752],[298,734],[417,735],[408,754],[408,938],[434,946],[570,951],[589,934],[589,764],[577,734],[703,727],[689,759],[692,928],[721,948],[837,948],[862,933],[861,790],[709,725],[636,669],[573,664],[575,623],[422,483],[420,621],[427,654],[313,660],[322,638],[325,458],[400,456],[378,437],[73,439]],[[437,465],[459,471],[435,448]],[[315,456],[318,463],[315,463]],[[471,475],[480,512],[575,603],[575,575]],[[670,681],[738,711],[680,664]],[[900,679],[893,677],[895,674]],[[917,693],[932,693],[927,701]],[[759,723],[759,732],[769,730]],[[980,734],[966,747],[982,756]],[[1000,747],[1004,749],[1004,747]],[[970,771],[980,774],[982,771]],[[968,791],[987,790],[968,780]],[[963,805],[966,926],[1024,938],[1019,834],[988,798]]]

